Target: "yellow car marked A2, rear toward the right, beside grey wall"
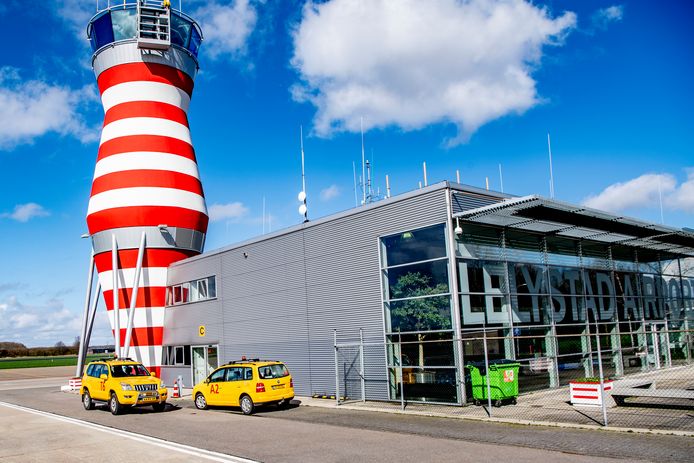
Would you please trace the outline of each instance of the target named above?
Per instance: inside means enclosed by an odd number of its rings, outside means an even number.
[[[294,398],[294,381],[287,367],[274,360],[238,360],[214,370],[193,388],[195,406],[241,407],[250,415],[256,405],[287,406]]]

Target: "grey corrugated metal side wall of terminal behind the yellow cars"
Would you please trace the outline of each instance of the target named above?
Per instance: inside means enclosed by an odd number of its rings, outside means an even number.
[[[360,328],[365,342],[384,341],[379,236],[445,222],[447,192],[429,187],[175,264],[169,284],[215,274],[218,297],[168,309],[164,344],[219,343],[220,363],[282,360],[298,395],[334,394],[333,330],[338,342],[358,341]],[[385,351],[366,352],[368,371],[382,372],[367,397],[387,399]]]

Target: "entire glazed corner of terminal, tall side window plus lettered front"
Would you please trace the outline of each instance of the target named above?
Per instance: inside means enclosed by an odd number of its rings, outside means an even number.
[[[598,336],[614,377],[692,357],[694,259],[473,223],[451,256],[446,230],[381,237],[392,400],[462,403],[485,346],[521,362],[521,392],[597,374]]]

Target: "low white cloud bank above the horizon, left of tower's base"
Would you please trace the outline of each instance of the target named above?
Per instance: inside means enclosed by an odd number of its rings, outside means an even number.
[[[55,298],[29,305],[10,296],[0,302],[0,314],[0,340],[26,345],[52,346],[58,341],[69,344],[81,328],[81,315]]]

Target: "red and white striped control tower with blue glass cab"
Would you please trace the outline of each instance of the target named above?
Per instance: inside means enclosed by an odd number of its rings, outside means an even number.
[[[187,118],[202,34],[168,2],[143,0],[99,11],[87,32],[105,112],[87,211],[93,263],[116,353],[159,376],[167,268],[202,252],[207,231]]]

